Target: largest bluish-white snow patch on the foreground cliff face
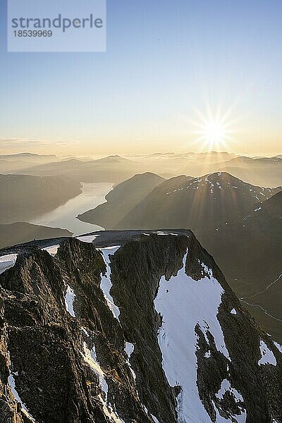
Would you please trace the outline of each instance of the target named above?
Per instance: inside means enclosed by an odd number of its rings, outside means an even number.
[[[179,422],[206,423],[209,419],[197,390],[197,334],[199,324],[214,336],[216,348],[230,360],[217,314],[223,288],[213,276],[194,281],[185,274],[187,254],[177,276],[160,280],[154,300],[163,317],[158,333],[163,369],[171,386],[181,386],[178,396]],[[168,292],[167,292],[168,290]]]

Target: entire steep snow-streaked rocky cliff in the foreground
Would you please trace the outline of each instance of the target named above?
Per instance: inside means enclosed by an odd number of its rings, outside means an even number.
[[[282,421],[280,346],[191,232],[15,253],[0,257],[0,422]]]

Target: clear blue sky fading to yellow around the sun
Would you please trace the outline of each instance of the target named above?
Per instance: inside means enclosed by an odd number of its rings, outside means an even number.
[[[281,0],[108,0],[105,53],[8,53],[0,4],[1,154],[281,154]]]

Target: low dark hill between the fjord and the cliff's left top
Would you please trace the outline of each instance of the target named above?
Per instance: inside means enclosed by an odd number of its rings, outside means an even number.
[[[48,228],[47,226],[32,225],[31,223],[10,223],[0,224],[0,248],[8,245],[27,243],[31,240],[44,240],[47,238],[57,238],[72,236],[66,229]]]

